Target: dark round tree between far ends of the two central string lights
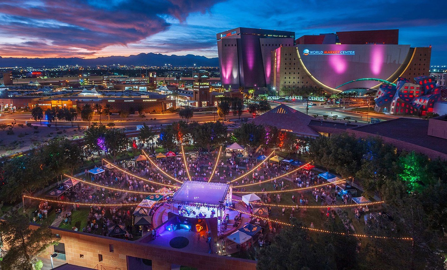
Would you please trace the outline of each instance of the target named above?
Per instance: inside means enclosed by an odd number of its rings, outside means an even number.
[[[227,140],[227,127],[220,121],[195,125],[192,138],[198,147],[211,147],[223,144]]]

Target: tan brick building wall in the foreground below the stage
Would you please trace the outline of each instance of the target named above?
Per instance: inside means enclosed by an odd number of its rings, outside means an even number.
[[[36,228],[36,225],[30,226]],[[170,270],[172,264],[196,267],[198,270],[256,269],[256,262],[245,259],[198,252],[186,253],[173,248],[143,244],[136,241],[126,241],[55,227],[50,228],[53,233],[60,235],[60,242],[65,244],[67,263],[76,266],[94,268],[100,264],[127,270],[127,256],[132,256],[152,260],[153,270]],[[114,252],[110,252],[109,245],[114,245]],[[53,251],[53,246],[49,247],[47,253],[42,257],[50,258]],[[84,255],[83,258],[80,258],[80,254]],[[99,262],[98,254],[102,255],[102,262]]]

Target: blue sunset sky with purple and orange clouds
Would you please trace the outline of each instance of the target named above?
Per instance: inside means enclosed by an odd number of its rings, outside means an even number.
[[[105,57],[138,53],[217,57],[216,33],[399,29],[400,44],[432,45],[447,65],[446,0],[1,0],[0,56]]]

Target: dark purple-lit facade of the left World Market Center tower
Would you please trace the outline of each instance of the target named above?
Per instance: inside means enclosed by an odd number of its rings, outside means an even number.
[[[271,51],[280,46],[293,46],[294,32],[236,28],[216,35],[222,85],[270,86]]]

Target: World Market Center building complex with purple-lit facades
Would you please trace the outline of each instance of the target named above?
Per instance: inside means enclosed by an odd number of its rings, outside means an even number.
[[[294,41],[293,32],[276,31],[276,37],[271,33],[267,38],[272,30],[255,30],[217,35],[224,87],[274,89],[280,96],[283,87],[363,93],[378,90],[382,83],[396,84],[398,78],[430,74],[431,47],[399,44],[397,29],[305,35]],[[243,41],[245,36],[250,42]],[[265,55],[268,50],[270,57]]]

